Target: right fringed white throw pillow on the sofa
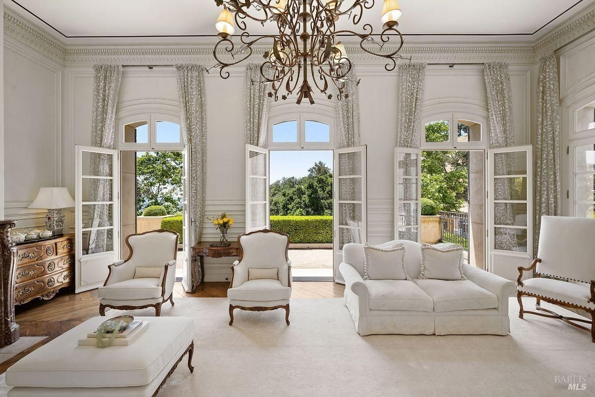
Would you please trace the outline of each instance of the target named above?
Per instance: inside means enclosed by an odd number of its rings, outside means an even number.
[[[463,247],[458,244],[421,245],[420,279],[466,280],[463,274]]]

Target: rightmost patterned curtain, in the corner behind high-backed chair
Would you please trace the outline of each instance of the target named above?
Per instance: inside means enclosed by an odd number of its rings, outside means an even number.
[[[537,77],[535,136],[535,236],[537,252],[541,215],[560,215],[560,91],[553,52],[541,58]]]

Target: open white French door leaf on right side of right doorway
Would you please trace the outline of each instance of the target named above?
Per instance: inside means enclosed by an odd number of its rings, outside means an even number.
[[[488,270],[516,280],[533,261],[533,145],[488,151]]]

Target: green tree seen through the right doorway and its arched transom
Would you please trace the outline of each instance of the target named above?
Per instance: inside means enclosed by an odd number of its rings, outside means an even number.
[[[428,123],[425,136],[427,142],[444,142],[449,136],[449,124]],[[422,151],[421,196],[434,201],[441,211],[461,210],[468,198],[468,167],[466,151]]]

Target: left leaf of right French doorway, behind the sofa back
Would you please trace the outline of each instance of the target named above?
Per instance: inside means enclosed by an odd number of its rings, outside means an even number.
[[[421,150],[394,148],[394,239],[421,242]]]

